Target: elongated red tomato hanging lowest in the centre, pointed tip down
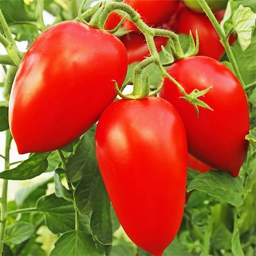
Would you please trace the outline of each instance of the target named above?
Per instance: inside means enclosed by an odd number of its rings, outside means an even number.
[[[162,255],[184,210],[187,141],[179,114],[161,98],[115,101],[98,122],[96,155],[125,232]]]

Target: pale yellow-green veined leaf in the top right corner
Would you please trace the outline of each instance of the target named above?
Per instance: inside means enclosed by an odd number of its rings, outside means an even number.
[[[233,15],[233,26],[243,51],[249,47],[255,28],[256,14],[249,7],[240,5]]]

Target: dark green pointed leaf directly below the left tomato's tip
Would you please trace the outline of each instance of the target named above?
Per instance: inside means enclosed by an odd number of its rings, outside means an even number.
[[[48,162],[46,160],[50,153],[32,154],[19,166],[0,173],[0,178],[8,180],[29,180],[46,171]]]

